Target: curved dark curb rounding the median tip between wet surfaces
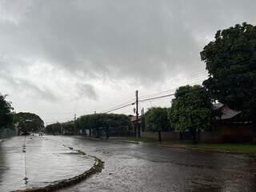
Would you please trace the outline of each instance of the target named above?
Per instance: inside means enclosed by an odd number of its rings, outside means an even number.
[[[73,147],[70,147],[70,146],[66,146],[66,147],[68,147],[70,150],[73,149]],[[76,151],[80,154],[84,154],[84,155],[86,154],[81,150],[76,150]],[[49,192],[54,190],[60,190],[67,186],[73,186],[74,184],[77,184],[78,182],[81,182],[82,180],[89,178],[93,174],[98,174],[102,172],[102,169],[104,168],[104,162],[102,162],[102,160],[99,158],[96,158],[91,155],[89,156],[95,159],[94,166],[92,166],[90,170],[86,170],[82,174],[78,174],[73,178],[66,178],[61,181],[53,182],[49,186],[35,187],[35,188],[26,189],[26,190],[13,190],[12,192]]]

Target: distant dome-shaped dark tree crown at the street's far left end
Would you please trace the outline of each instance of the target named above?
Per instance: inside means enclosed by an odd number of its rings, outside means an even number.
[[[14,123],[18,123],[18,127],[27,132],[37,132],[44,128],[44,123],[37,114],[22,112],[14,114]]]

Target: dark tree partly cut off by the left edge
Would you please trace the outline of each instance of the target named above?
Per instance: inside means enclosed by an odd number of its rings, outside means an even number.
[[[6,95],[0,94],[0,130],[3,127],[11,126],[13,121],[13,107],[6,101]]]

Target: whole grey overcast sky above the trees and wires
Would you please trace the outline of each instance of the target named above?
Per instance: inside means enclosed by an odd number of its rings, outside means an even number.
[[[1,0],[0,91],[16,112],[47,123],[132,101],[135,90],[140,98],[171,93],[202,82],[203,46],[217,30],[255,25],[255,7],[254,0]]]

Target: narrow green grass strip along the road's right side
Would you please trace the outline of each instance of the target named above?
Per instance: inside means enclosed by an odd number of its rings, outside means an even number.
[[[218,151],[218,152],[230,152],[238,154],[256,154],[256,145],[250,144],[240,144],[240,143],[168,143],[167,146],[177,146],[187,149],[194,150],[209,150],[209,151]]]

